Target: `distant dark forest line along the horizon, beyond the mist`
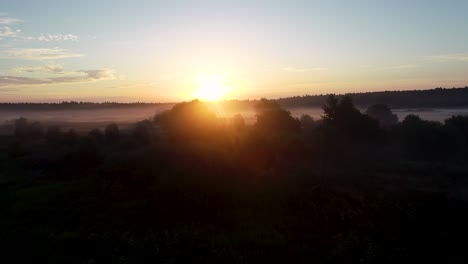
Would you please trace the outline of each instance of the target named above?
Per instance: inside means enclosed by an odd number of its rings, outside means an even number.
[[[272,99],[285,108],[321,107],[329,94],[293,96]],[[435,88],[431,90],[383,91],[348,93],[337,95],[338,98],[349,96],[354,105],[367,108],[372,104],[384,104],[390,108],[436,108],[436,107],[468,107],[468,87]],[[259,100],[225,100],[220,102],[226,110],[254,110]],[[174,105],[175,103],[116,103],[116,102],[78,102],[64,101],[60,103],[0,103],[0,110],[67,110],[67,109],[100,109],[124,107],[153,107],[158,105]]]

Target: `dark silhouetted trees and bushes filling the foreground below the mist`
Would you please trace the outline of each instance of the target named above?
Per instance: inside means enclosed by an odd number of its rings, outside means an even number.
[[[193,101],[87,134],[16,120],[1,262],[465,263],[467,116],[255,109],[246,125]]]

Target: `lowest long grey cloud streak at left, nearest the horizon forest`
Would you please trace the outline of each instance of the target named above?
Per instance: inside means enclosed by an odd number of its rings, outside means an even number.
[[[77,76],[54,77],[54,78],[29,78],[19,76],[0,76],[0,86],[16,85],[49,85],[63,83],[94,82],[115,79],[114,71],[104,70],[82,70],[77,71]]]

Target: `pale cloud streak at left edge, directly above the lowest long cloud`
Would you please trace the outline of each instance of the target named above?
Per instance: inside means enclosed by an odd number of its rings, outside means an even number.
[[[4,51],[6,56],[3,59],[19,59],[19,60],[56,60],[63,58],[81,57],[83,54],[70,52],[61,48],[24,48],[10,49]]]

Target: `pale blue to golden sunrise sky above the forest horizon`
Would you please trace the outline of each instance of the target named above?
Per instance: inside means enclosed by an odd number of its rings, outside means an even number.
[[[0,101],[464,87],[467,14],[466,0],[1,0]]]

